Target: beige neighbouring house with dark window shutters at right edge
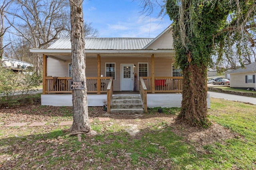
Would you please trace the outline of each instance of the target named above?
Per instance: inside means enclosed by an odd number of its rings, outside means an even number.
[[[230,87],[250,90],[256,88],[256,63],[251,63],[245,68],[238,68],[230,72]]]

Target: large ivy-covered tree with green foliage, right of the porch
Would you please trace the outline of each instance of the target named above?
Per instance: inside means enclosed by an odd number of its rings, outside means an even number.
[[[166,13],[173,20],[176,65],[183,73],[182,108],[177,121],[208,127],[207,69],[211,56],[218,59],[236,45],[255,44],[255,0],[167,0]],[[240,43],[243,42],[243,43]]]

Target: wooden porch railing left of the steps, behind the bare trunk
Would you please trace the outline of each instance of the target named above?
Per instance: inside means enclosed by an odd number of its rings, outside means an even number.
[[[106,93],[110,77],[86,77],[87,93]],[[46,77],[46,90],[48,93],[72,93],[70,90],[71,77]],[[100,86],[98,87],[98,84]]]

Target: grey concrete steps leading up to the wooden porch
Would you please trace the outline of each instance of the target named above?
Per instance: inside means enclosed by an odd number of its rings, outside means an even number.
[[[111,100],[110,113],[142,114],[144,113],[140,95],[114,95]]]

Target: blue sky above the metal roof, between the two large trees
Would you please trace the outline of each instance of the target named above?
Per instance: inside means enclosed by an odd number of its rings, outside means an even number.
[[[92,22],[99,37],[154,38],[166,29],[171,21],[166,15],[157,18],[159,10],[150,16],[142,15],[139,0],[84,0],[84,20]]]

